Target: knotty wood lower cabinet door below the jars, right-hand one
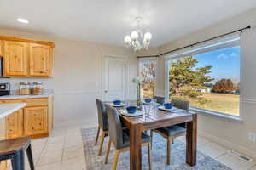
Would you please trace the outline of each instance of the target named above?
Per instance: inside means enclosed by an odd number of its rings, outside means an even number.
[[[47,133],[47,107],[28,107],[24,109],[24,133],[34,135]]]

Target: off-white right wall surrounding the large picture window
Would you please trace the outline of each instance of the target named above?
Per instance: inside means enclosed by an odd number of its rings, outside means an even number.
[[[241,36],[241,115],[243,121],[236,122],[218,116],[200,114],[198,125],[201,134],[233,150],[256,158],[256,143],[250,142],[247,138],[248,132],[256,133],[256,8],[201,31],[193,32],[177,41],[169,42],[161,46],[159,52],[164,53],[181,48],[248,25],[253,26],[253,29],[245,31]],[[165,90],[165,62],[162,58],[159,65],[156,89],[163,92]]]

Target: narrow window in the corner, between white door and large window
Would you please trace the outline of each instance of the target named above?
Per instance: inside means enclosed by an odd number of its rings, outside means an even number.
[[[156,59],[139,60],[139,76],[142,79],[143,98],[153,98],[156,71]]]

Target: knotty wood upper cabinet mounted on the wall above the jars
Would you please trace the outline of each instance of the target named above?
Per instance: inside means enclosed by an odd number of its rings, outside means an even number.
[[[53,42],[0,36],[3,76],[51,77]]]

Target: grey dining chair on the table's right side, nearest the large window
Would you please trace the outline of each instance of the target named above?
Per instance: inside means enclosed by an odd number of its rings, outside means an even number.
[[[172,99],[171,102],[174,107],[177,107],[178,109],[183,109],[185,111],[189,111],[189,101]],[[170,127],[161,127],[161,128],[151,130],[150,131],[151,144],[153,139],[153,132],[159,133],[162,137],[164,137],[167,140],[166,163],[167,165],[170,165],[173,139],[186,134],[186,123],[181,123],[177,125],[172,125]]]

